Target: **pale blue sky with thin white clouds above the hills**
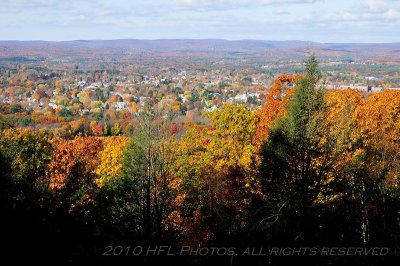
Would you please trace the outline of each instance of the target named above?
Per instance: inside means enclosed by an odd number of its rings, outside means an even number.
[[[400,42],[400,0],[0,0],[0,40]]]

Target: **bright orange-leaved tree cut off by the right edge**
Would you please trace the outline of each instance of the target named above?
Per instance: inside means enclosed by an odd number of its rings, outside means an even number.
[[[400,185],[400,91],[374,94],[355,112],[357,130],[354,139],[362,143],[362,155],[368,172],[380,180],[382,195]]]

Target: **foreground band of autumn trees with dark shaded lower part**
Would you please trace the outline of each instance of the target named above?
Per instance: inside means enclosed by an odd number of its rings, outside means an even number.
[[[60,136],[3,123],[5,257],[129,265],[398,260],[400,91],[328,90],[322,75],[310,56],[302,74],[275,79],[260,109],[224,103],[202,114],[206,123],[174,123],[151,104],[123,134],[118,124]],[[161,245],[389,252],[136,256],[130,250]],[[116,249],[105,255],[109,246],[121,246],[125,255],[115,256]]]

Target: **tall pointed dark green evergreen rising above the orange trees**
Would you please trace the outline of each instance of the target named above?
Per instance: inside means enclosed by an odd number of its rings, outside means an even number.
[[[285,212],[286,222],[294,221],[293,239],[304,241],[311,238],[313,206],[330,169],[331,149],[321,143],[326,108],[324,88],[318,87],[320,77],[312,55],[297,82],[287,116],[276,122],[261,150],[260,175],[269,210],[274,213],[271,217]],[[270,221],[263,219],[266,224]]]

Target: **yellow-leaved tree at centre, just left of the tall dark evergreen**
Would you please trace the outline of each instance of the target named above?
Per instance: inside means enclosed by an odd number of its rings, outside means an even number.
[[[243,225],[240,214],[252,187],[254,113],[245,105],[225,104],[207,117],[210,127],[188,125],[175,144],[175,210],[165,226],[178,231],[186,244],[207,242],[222,224]]]

